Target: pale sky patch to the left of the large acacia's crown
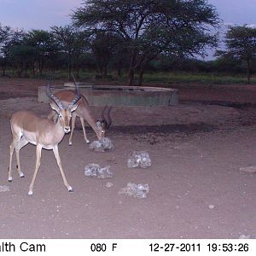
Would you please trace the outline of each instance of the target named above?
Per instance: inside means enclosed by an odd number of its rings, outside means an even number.
[[[81,3],[82,0],[0,0],[0,23],[25,30],[65,26]]]

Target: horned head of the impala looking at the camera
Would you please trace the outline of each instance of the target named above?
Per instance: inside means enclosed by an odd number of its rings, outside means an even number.
[[[56,113],[58,113],[58,119],[60,120],[61,127],[65,133],[68,133],[70,131],[69,123],[71,119],[71,113],[78,108],[79,99],[81,96],[77,91],[73,101],[70,102],[67,108],[65,108],[61,101],[51,92],[49,84],[47,86],[46,92],[49,96],[49,99],[51,100],[49,101],[50,107],[55,110]]]

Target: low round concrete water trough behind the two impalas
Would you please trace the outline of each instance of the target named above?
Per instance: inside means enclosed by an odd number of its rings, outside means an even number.
[[[52,90],[74,90],[74,84],[52,86]],[[177,90],[169,88],[79,83],[79,90],[90,106],[173,106],[178,102]],[[45,91],[45,86],[38,87],[39,102],[49,102]]]

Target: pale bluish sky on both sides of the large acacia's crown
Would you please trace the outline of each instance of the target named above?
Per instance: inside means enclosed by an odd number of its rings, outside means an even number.
[[[82,0],[0,0],[0,23],[26,30],[70,23]],[[226,24],[256,26],[256,0],[208,0]]]

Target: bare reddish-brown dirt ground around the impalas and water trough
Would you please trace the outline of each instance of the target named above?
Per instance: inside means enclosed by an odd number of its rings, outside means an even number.
[[[256,166],[256,86],[173,84],[177,106],[115,107],[114,149],[105,153],[90,151],[77,121],[73,146],[68,135],[59,145],[74,192],[63,185],[53,152],[43,150],[29,196],[35,146],[20,150],[26,177],[14,172],[9,183],[9,118],[20,109],[47,116],[49,106],[37,101],[42,84],[0,79],[0,188],[9,189],[0,192],[0,238],[256,238],[256,173],[240,171]],[[95,117],[101,110],[92,108]],[[151,167],[127,167],[135,149],[148,151]],[[85,177],[89,163],[110,166],[113,177]],[[148,197],[120,195],[127,183],[148,183]]]

